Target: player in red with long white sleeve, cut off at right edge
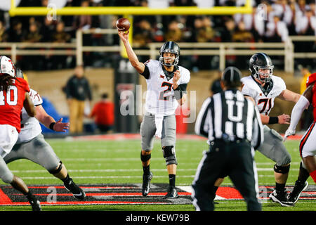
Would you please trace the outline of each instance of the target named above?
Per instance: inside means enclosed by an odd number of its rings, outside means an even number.
[[[289,193],[289,202],[295,204],[300,198],[300,195],[308,187],[306,181],[309,176],[312,177],[316,183],[316,73],[310,75],[306,81],[306,90],[302,94],[300,100],[294,105],[291,113],[291,123],[289,128],[285,132],[284,141],[288,136],[295,134],[296,125],[301,118],[301,115],[310,104],[313,106],[314,121],[310,124],[310,127],[303,135],[299,146],[302,162],[298,173],[298,179],[295,182],[295,186],[291,193]]]

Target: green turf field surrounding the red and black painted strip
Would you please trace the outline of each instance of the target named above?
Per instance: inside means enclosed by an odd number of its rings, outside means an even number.
[[[70,176],[77,184],[116,184],[141,183],[143,170],[140,163],[140,140],[129,141],[79,141],[74,139],[47,139],[55,153],[67,167]],[[301,158],[298,153],[298,141],[285,143],[292,157],[291,170],[287,185],[294,185],[298,176]],[[177,186],[190,186],[197,165],[206,150],[206,141],[178,140],[176,154],[178,158]],[[274,186],[272,167],[274,162],[256,152],[259,186]],[[11,162],[8,167],[20,176],[27,185],[59,184],[62,182],[39,165],[28,160]],[[168,175],[159,141],[154,142],[150,168],[154,174],[152,183],[168,183]],[[308,183],[313,185],[312,179]],[[0,184],[2,181],[0,181]],[[222,184],[232,185],[230,179]],[[216,210],[246,210],[242,200],[219,200]],[[279,207],[269,200],[263,201],[263,210],[296,211],[315,210],[316,200],[299,200],[295,207]],[[29,210],[29,206],[1,206],[0,210]],[[55,205],[42,206],[42,210],[195,210],[192,205]]]

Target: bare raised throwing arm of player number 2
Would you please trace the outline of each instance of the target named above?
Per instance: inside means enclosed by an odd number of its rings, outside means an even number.
[[[142,74],[145,71],[145,64],[140,63],[138,60],[136,53],[133,51],[131,44],[129,43],[129,31],[123,32],[119,31],[119,38],[124,44],[124,47],[126,49],[127,56],[129,57],[129,61],[131,62],[131,65],[133,65],[133,68],[137,70],[138,73]]]

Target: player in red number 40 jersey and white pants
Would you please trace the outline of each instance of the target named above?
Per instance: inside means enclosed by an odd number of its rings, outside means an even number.
[[[29,98],[29,84],[24,79],[15,77],[15,66],[10,58],[0,56],[0,178],[23,193],[33,211],[41,211],[37,197],[29,191],[20,177],[10,171],[3,159],[11,152],[18,139],[23,106],[27,114],[34,117],[36,112]]]

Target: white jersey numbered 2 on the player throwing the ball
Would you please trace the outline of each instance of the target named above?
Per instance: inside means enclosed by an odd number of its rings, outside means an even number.
[[[158,60],[147,60],[145,63],[150,71],[146,79],[147,94],[145,109],[147,112],[162,115],[172,115],[178,108],[178,101],[172,89],[173,78],[167,79]],[[179,66],[180,79],[177,84],[187,84],[190,81],[190,71]]]

